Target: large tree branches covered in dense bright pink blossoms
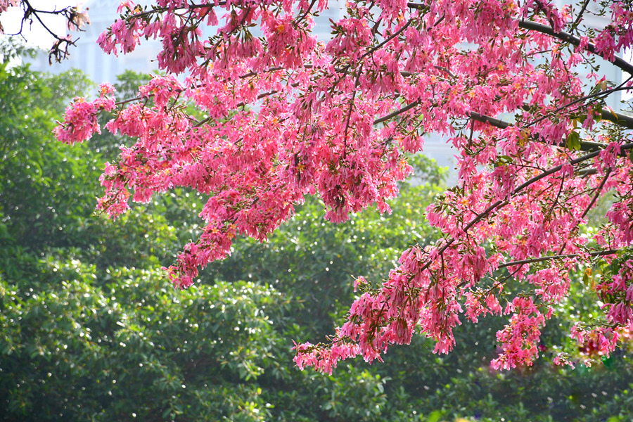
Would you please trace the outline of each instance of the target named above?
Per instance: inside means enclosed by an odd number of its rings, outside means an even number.
[[[311,32],[326,0],[156,3],[124,1],[98,42],[117,54],[159,37],[166,76],[118,103],[109,85],[94,101],[76,98],[55,132],[89,139],[106,110],[111,132],[137,139],[101,177],[98,208],[110,217],[130,197],[174,186],[208,197],[203,233],[167,269],[177,288],[226,257],[236,236],[264,241],[307,194],[334,223],[369,206],[388,212],[407,156],[434,133],[459,169],[427,209],[442,239],[411,245],[382,283],[359,277],[345,324],[326,343],[297,345],[298,366],[371,362],[416,331],[449,352],[453,328],[487,314],[509,316],[492,366],[529,365],[570,272],[582,265],[589,277],[597,261],[613,264],[591,283],[603,318],[571,335],[589,358],[633,329],[633,119],[606,107],[633,89],[622,58],[633,44],[630,1],[350,0],[327,42]],[[606,25],[585,25],[592,15]],[[605,66],[625,81],[606,79]],[[604,224],[587,231],[587,213],[609,192]],[[522,288],[509,289],[511,279]]]

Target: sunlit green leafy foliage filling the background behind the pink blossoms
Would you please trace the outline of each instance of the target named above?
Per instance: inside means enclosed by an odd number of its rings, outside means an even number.
[[[98,175],[117,153],[110,134],[72,148],[53,141],[80,75],[0,72],[0,414],[6,421],[625,421],[633,414],[632,350],[585,368],[488,366],[503,319],[456,331],[447,356],[414,337],[385,362],[333,376],[298,371],[292,340],[323,339],[354,298],[354,276],[381,283],[400,250],[436,233],[423,212],[442,171],[414,157],[391,215],[324,222],[316,200],[265,243],[241,239],[197,287],[174,291],[169,264],[204,198],[177,189],[116,222],[94,214]],[[128,73],[117,92],[142,79]],[[70,86],[72,86],[72,90]],[[177,241],[178,239],[178,241]],[[594,269],[606,274],[608,268]],[[565,338],[593,312],[580,269],[544,332]],[[245,281],[244,281],[245,280]],[[568,347],[575,347],[568,343]],[[463,422],[463,421],[461,421]]]

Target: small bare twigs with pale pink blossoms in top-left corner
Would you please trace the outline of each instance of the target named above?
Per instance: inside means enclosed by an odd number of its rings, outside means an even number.
[[[20,29],[11,35],[22,35],[25,24],[32,25],[34,21],[37,21],[55,39],[49,51],[49,63],[52,63],[53,60],[60,62],[68,58],[68,48],[74,46],[77,39],[73,40],[70,34],[62,36],[53,31],[49,25],[44,23],[42,15],[62,16],[66,20],[66,26],[69,30],[82,30],[82,27],[90,24],[87,10],[83,10],[80,6],[53,7],[51,10],[34,7],[29,0],[0,0],[0,13],[6,12],[10,7],[19,7],[23,11]],[[2,23],[0,23],[0,34],[4,34]]]

